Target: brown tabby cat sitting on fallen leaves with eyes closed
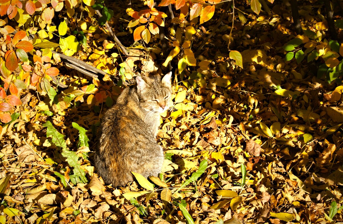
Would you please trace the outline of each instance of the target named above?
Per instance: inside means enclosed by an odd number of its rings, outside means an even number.
[[[132,172],[144,177],[161,173],[164,155],[156,142],[160,113],[171,100],[171,72],[136,77],[137,85],[126,88],[108,109],[98,130],[95,167],[106,184],[124,186]]]

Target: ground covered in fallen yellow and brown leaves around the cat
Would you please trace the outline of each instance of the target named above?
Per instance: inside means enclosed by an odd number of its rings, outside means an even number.
[[[304,26],[319,35],[326,28],[314,25],[321,21],[317,10],[302,13]],[[219,16],[209,22],[214,26]],[[197,57],[198,86],[180,82],[184,77],[176,74],[174,107],[163,114],[157,139],[165,149],[162,181],[137,178],[112,188],[96,175],[96,128],[121,91],[109,77],[93,80],[110,96],[100,104],[94,97],[64,100],[49,110],[48,95],[24,92],[23,105],[0,136],[0,223],[342,221],[342,91],[334,91],[341,82],[318,78],[306,60],[285,60],[282,47],[296,36],[290,35],[289,6],[274,3],[270,14],[245,16],[245,25],[234,21],[230,45],[242,53],[244,69],[229,59],[227,18]],[[120,30],[122,24],[113,26]],[[204,29],[196,30],[194,49]],[[129,46],[131,34],[121,35]],[[112,52],[98,50],[106,39],[97,30],[88,40],[94,45],[75,57],[116,70]],[[69,86],[58,92],[60,99],[92,83],[62,64],[59,69],[60,81]],[[80,157],[79,164],[69,151]]]

